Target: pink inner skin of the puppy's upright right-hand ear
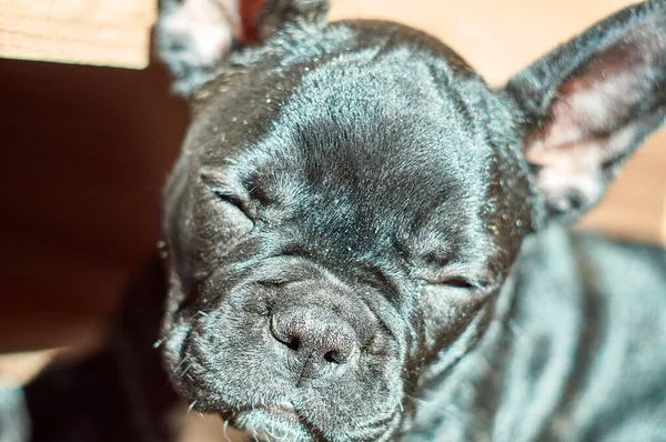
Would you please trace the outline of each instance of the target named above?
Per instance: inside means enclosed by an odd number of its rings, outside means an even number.
[[[551,121],[525,141],[527,161],[539,165],[542,194],[559,210],[572,198],[593,204],[603,194],[604,165],[632,145],[636,110],[649,94],[654,42],[625,42],[574,72],[551,104]]]

